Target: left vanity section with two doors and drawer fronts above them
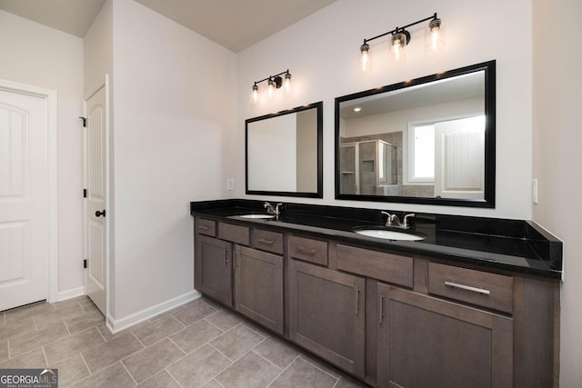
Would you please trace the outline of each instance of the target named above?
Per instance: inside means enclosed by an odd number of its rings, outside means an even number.
[[[283,334],[283,234],[199,217],[195,228],[196,290]]]

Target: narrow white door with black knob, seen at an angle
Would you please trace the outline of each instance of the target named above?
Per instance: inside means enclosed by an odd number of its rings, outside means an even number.
[[[85,100],[85,254],[86,290],[93,303],[106,312],[106,128],[105,85]]]

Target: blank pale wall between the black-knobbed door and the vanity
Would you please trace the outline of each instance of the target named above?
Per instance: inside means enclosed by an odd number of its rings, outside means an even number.
[[[113,0],[113,71],[111,313],[123,327],[194,293],[189,202],[226,191],[236,55],[144,5]]]

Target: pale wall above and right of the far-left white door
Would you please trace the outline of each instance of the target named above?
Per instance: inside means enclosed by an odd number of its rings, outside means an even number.
[[[0,11],[0,53],[1,79],[57,92],[58,290],[82,293],[83,40]]]

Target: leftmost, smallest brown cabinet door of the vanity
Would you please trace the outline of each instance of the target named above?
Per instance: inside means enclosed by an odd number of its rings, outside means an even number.
[[[196,290],[227,306],[233,304],[232,244],[206,235],[196,235],[194,286]]]

